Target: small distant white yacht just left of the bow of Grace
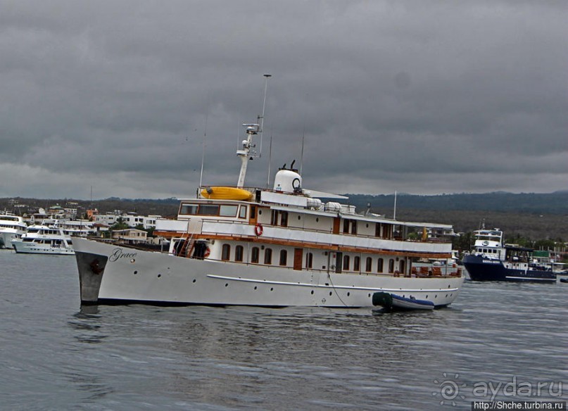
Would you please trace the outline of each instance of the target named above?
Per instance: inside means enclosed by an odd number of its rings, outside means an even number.
[[[71,237],[63,229],[46,225],[30,225],[21,239],[12,240],[16,253],[73,255]]]

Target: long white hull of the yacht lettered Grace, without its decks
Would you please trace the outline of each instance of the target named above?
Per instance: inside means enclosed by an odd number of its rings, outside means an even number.
[[[372,294],[449,305],[463,277],[393,277],[176,257],[73,237],[83,304],[372,307]]]

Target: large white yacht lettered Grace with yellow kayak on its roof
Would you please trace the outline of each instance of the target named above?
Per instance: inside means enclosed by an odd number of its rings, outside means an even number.
[[[72,237],[83,304],[355,308],[372,307],[374,293],[437,308],[454,301],[462,272],[412,270],[415,259],[451,257],[448,239],[416,235],[453,232],[450,225],[324,203],[321,198],[346,197],[303,189],[293,167],[277,172],[273,189],[246,187],[260,125],[244,126],[236,186],[202,186],[196,198],[181,200],[176,220],[156,220],[155,235],[171,239],[168,252]]]

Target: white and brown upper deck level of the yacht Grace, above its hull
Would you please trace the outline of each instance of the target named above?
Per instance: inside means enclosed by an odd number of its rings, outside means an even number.
[[[436,254],[443,258],[451,251],[451,225],[357,214],[353,205],[322,203],[299,193],[249,190],[248,201],[182,199],[177,220],[156,220],[155,233],[166,237],[191,234],[211,239],[286,241],[291,245],[377,253]]]

